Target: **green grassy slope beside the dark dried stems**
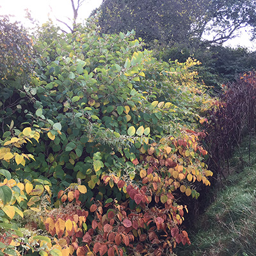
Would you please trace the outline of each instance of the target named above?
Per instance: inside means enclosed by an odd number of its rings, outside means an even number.
[[[248,163],[248,139],[241,145]],[[256,138],[252,141],[250,164],[242,166],[238,150],[231,162],[232,173],[216,189],[210,205],[190,232],[191,246],[180,246],[178,256],[256,255]]]

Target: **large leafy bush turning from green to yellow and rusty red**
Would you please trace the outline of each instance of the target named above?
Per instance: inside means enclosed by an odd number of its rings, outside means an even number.
[[[0,212],[8,224],[28,214],[13,228],[35,232],[17,254],[168,255],[190,244],[179,195],[195,200],[212,176],[200,127],[214,100],[196,79],[199,61],[158,61],[132,33],[101,36],[93,20],[57,31],[38,31],[30,84],[1,82]],[[10,180],[24,183],[21,205]]]

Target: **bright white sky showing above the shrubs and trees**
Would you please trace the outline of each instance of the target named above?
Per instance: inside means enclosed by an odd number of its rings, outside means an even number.
[[[76,3],[77,0],[74,0]],[[79,8],[78,22],[83,22],[88,18],[92,10],[100,6],[102,0],[85,0],[81,8]],[[46,22],[48,17],[55,23],[56,18],[68,22],[68,18],[72,19],[72,6],[70,0],[0,0],[0,15],[15,15],[12,19],[20,21],[24,26],[29,27],[29,22],[24,17],[26,12],[24,9],[28,8],[31,11],[31,16],[38,20],[40,24]],[[51,6],[51,7],[50,7]],[[52,11],[51,11],[52,10]],[[62,28],[63,25],[57,23]],[[228,40],[226,46],[236,47],[244,46],[248,49],[256,50],[256,44],[250,42],[250,36],[244,31],[240,31],[241,36]]]

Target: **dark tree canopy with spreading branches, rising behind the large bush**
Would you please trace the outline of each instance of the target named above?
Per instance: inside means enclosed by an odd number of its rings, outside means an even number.
[[[154,39],[198,45],[205,33],[213,33],[211,43],[222,44],[245,26],[255,36],[255,1],[138,1],[104,0],[99,7],[102,33],[135,29],[146,42]]]

